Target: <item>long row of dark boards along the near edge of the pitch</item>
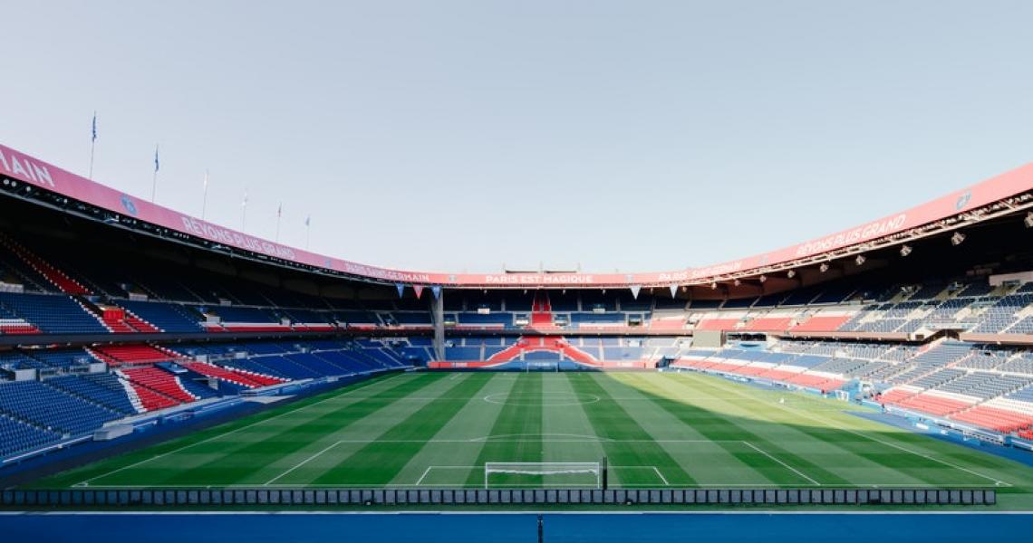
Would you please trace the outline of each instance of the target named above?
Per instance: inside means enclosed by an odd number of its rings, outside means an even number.
[[[6,489],[0,506],[61,508],[468,506],[969,506],[997,504],[992,488],[93,488]]]

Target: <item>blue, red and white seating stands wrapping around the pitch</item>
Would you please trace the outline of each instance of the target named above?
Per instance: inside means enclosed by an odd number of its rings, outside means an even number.
[[[10,224],[45,224],[38,213],[12,205]],[[781,269],[635,294],[448,286],[436,315],[415,285],[45,213],[82,221],[73,230],[85,233],[71,243],[74,232],[42,226],[0,232],[2,454],[198,402],[450,363],[662,362],[823,393],[864,390],[887,410],[1033,437],[1033,254],[995,233],[1013,231],[1014,218],[970,232],[966,247],[977,251],[930,241],[921,265],[899,263],[890,248],[871,255],[886,262],[871,269],[812,263],[800,277]],[[431,338],[438,324],[443,344]],[[698,337],[717,345],[694,347]]]

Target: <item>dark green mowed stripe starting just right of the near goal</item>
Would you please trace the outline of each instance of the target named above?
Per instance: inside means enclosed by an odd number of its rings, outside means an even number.
[[[683,470],[678,460],[668,454],[663,447],[653,441],[649,433],[628,415],[620,403],[615,402],[609,393],[599,386],[597,379],[608,379],[608,377],[597,377],[595,374],[574,374],[570,376],[570,384],[578,394],[599,397],[599,402],[592,404],[592,407],[586,409],[585,413],[588,415],[595,435],[605,439],[602,442],[602,448],[606,452],[609,465],[656,467],[663,473],[670,485],[694,485],[696,480]],[[626,443],[621,440],[635,440],[635,442]],[[636,473],[636,471],[631,470],[611,472],[611,481],[614,484],[662,486],[662,481],[657,479],[655,473],[649,472]]]

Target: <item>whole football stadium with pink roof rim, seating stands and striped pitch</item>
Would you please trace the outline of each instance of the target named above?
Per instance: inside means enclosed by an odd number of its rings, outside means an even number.
[[[0,167],[7,508],[1033,507],[1033,166],[630,275],[384,269]]]

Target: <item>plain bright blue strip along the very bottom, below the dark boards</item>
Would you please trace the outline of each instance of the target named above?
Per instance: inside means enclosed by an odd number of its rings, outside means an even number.
[[[546,543],[654,541],[800,543],[1022,540],[1030,514],[545,514]],[[515,514],[22,514],[0,516],[5,541],[252,543],[421,541],[533,543],[538,515]]]

